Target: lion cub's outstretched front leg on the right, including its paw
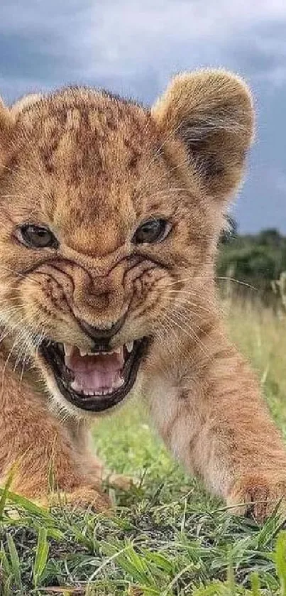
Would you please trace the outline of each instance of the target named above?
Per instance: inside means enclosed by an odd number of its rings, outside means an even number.
[[[286,450],[258,383],[221,335],[209,346],[214,353],[181,384],[157,378],[150,408],[160,434],[230,512],[263,521],[282,499],[286,513]]]

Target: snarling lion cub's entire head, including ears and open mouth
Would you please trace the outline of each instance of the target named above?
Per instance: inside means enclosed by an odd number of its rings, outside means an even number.
[[[211,271],[251,128],[246,87],[216,71],[152,111],[77,88],[0,106],[0,318],[57,401],[104,411],[131,390]]]

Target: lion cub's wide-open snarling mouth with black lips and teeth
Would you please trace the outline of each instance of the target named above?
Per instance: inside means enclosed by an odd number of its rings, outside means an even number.
[[[41,352],[65,399],[82,410],[104,411],[131,390],[146,342],[136,340],[94,354],[67,344],[43,342]]]

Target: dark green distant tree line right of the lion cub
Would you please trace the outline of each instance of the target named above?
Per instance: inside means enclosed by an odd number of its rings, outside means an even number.
[[[256,295],[272,302],[272,282],[282,271],[286,271],[286,237],[275,228],[258,234],[238,234],[236,221],[229,218],[229,229],[221,235],[217,275],[251,284],[257,288]],[[238,293],[249,296],[248,290],[239,284],[236,288]]]

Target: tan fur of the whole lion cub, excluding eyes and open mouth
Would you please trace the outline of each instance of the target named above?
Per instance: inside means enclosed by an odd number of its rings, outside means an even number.
[[[62,397],[37,334],[89,351],[77,319],[106,329],[127,312],[112,346],[153,338],[134,391],[175,457],[233,506],[266,499],[259,519],[284,494],[282,440],[226,338],[214,283],[252,139],[251,95],[223,70],[175,77],[151,111],[84,88],[0,105],[0,471],[18,461],[15,490],[44,497],[53,470],[69,501],[106,506],[93,418]],[[134,247],[150,216],[172,231]],[[48,225],[60,248],[21,245],[23,222]]]

